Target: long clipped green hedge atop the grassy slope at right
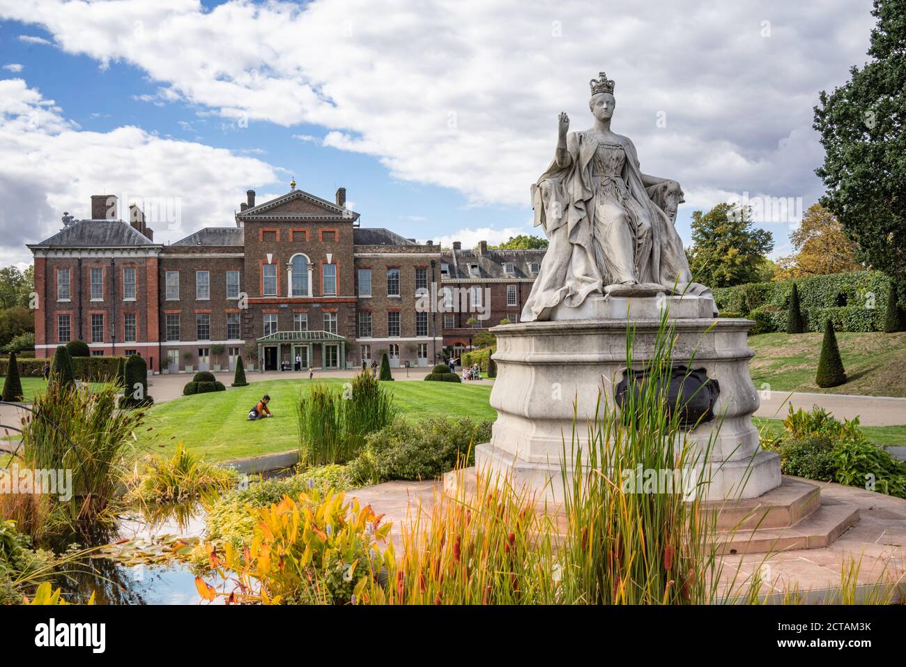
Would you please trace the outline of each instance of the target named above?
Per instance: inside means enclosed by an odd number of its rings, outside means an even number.
[[[777,283],[716,287],[721,314],[745,314],[757,325],[752,333],[786,331],[790,295],[796,285],[806,331],[822,332],[830,320],[837,331],[883,331],[891,279],[880,271],[811,275]],[[465,356],[465,355],[464,355]]]

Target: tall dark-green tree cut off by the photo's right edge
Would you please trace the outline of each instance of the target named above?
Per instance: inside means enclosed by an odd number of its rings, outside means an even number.
[[[859,257],[906,287],[906,3],[874,0],[868,54],[862,69],[814,108],[821,133],[821,203],[834,211]]]

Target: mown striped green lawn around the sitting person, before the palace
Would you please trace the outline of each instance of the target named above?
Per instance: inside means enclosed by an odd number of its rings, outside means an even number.
[[[222,461],[286,451],[298,447],[295,402],[311,382],[341,386],[341,378],[322,380],[274,380],[253,382],[247,387],[198,396],[184,396],[154,406],[148,411],[149,430],[140,443],[152,451],[169,453],[182,440],[186,448],[205,459]],[[452,382],[388,382],[394,404],[403,417],[419,420],[430,416],[465,416],[494,420],[488,403],[491,387]],[[248,421],[248,411],[263,394],[271,397],[271,419]]]

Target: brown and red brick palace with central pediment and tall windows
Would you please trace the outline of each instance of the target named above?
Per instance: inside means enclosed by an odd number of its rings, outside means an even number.
[[[231,227],[155,243],[145,214],[92,197],[92,217],[30,245],[35,353],[81,339],[153,372],[427,366],[517,322],[544,250],[463,250],[361,227],[346,206],[292,189]],[[446,348],[446,350],[445,350]]]

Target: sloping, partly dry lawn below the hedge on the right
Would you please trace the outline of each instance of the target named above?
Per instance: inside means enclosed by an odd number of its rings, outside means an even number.
[[[761,333],[750,336],[749,362],[756,387],[774,391],[821,391],[866,396],[906,396],[906,333],[838,332],[847,381],[821,389],[814,383],[824,333]]]

